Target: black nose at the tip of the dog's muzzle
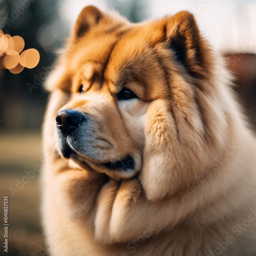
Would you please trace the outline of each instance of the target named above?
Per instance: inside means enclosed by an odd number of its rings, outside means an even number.
[[[65,134],[70,134],[82,121],[82,113],[76,110],[62,110],[55,118],[58,129]]]

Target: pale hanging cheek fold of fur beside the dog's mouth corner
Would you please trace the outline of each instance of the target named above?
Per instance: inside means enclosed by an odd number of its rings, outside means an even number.
[[[145,138],[140,180],[147,199],[155,201],[174,193],[179,186],[172,178],[176,176],[179,151],[177,129],[164,100],[156,100],[148,108]]]

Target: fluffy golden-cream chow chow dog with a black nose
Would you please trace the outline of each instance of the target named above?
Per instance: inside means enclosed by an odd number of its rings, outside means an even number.
[[[88,6],[46,83],[42,219],[54,256],[256,254],[256,139],[182,11]]]

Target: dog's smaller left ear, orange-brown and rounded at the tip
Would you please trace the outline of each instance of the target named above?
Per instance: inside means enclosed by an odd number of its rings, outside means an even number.
[[[95,27],[103,16],[104,14],[95,6],[91,5],[83,8],[76,20],[73,37],[82,37],[91,28]]]

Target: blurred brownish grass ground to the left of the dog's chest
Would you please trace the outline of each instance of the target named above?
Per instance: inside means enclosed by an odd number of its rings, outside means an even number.
[[[41,136],[39,132],[34,131],[1,132],[0,142],[0,194],[8,196],[9,205],[9,248],[8,253],[1,250],[0,255],[31,255],[32,252],[38,251],[38,245],[43,244],[39,212],[39,174],[33,172],[34,178],[24,177],[28,177],[27,171],[41,164]],[[3,210],[0,218],[4,218]],[[0,236],[3,238],[4,230],[0,230]]]

